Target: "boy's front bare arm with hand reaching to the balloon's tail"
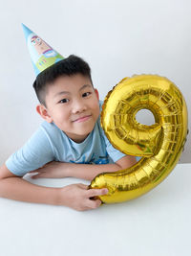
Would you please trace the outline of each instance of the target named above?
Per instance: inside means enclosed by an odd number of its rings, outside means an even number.
[[[6,165],[0,167],[0,197],[35,203],[66,205],[75,210],[97,208],[100,200],[95,196],[107,194],[107,189],[87,190],[84,184],[73,184],[63,188],[34,185],[22,177],[11,174]]]

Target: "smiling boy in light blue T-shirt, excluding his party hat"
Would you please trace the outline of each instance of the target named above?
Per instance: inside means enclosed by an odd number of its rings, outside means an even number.
[[[135,157],[114,149],[100,128],[98,92],[89,65],[75,56],[64,58],[39,73],[33,87],[40,102],[36,110],[45,122],[0,168],[0,197],[80,211],[97,208],[101,201],[91,198],[107,194],[107,189],[88,190],[84,184],[41,187],[22,178],[35,172],[33,178],[91,180],[136,162]]]

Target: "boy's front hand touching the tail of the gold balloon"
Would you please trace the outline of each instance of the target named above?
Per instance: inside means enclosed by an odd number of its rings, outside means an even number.
[[[84,184],[72,184],[60,189],[58,204],[66,205],[77,211],[96,209],[100,206],[101,200],[91,199],[96,196],[103,196],[108,189],[90,189]]]

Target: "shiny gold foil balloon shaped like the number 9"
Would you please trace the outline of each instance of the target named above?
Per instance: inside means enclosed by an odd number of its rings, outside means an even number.
[[[153,113],[155,125],[138,123],[143,108]],[[99,197],[104,203],[126,201],[156,187],[176,166],[187,135],[186,104],[166,78],[125,78],[105,98],[101,125],[117,150],[141,159],[128,169],[97,175],[90,188],[108,188],[108,195]]]

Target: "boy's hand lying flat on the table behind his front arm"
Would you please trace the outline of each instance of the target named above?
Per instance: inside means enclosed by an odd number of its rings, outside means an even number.
[[[50,162],[43,167],[30,172],[30,174],[35,173],[36,175],[32,175],[32,178],[58,178],[58,177],[67,177],[70,163],[63,162]]]

